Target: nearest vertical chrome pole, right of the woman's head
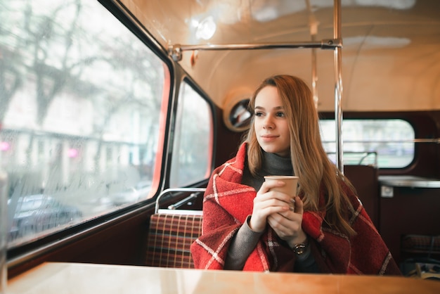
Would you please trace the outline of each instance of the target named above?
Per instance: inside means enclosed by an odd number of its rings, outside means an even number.
[[[341,1],[335,0],[333,10],[333,37],[341,39]],[[344,174],[342,150],[342,47],[335,48],[335,122],[336,122],[336,165]]]

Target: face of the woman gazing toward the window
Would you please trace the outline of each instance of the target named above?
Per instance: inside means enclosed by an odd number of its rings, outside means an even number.
[[[278,89],[267,86],[255,97],[254,129],[261,148],[279,156],[290,155],[290,132]]]

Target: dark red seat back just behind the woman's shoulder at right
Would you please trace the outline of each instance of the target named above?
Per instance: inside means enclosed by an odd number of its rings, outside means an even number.
[[[379,229],[379,171],[373,165],[344,165],[344,174],[351,181],[373,224]]]

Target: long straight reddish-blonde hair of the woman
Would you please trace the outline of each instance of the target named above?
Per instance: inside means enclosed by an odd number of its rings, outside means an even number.
[[[293,170],[299,177],[298,194],[303,195],[304,210],[318,211],[321,188],[326,195],[325,221],[346,234],[355,234],[347,222],[347,214],[353,210],[342,182],[354,189],[344,174],[325,153],[319,132],[318,112],[307,84],[291,75],[275,75],[265,79],[250,98],[250,111],[254,113],[255,98],[264,87],[276,87],[283,102],[290,131],[290,157]],[[254,117],[245,136],[247,160],[251,174],[257,176],[261,169],[262,152],[254,130]],[[346,216],[346,217],[344,217]]]

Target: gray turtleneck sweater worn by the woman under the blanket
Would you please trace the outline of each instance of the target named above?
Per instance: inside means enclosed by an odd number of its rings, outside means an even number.
[[[263,151],[263,164],[257,177],[253,177],[245,162],[245,170],[243,171],[242,184],[252,186],[259,191],[264,182],[266,175],[293,175],[293,167],[290,158],[283,158],[274,153],[266,153]],[[224,269],[241,270],[245,266],[247,257],[258,243],[259,238],[263,234],[252,231],[249,226],[250,216],[247,222],[242,224],[237,234],[233,237],[229,246],[228,256],[226,257]],[[310,253],[310,247],[295,262],[295,271],[298,272],[318,272],[315,259]]]

